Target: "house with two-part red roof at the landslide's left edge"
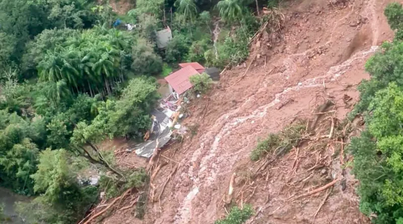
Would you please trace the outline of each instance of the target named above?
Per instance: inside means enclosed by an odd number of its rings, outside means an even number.
[[[169,84],[169,90],[171,93],[175,91],[178,95],[181,95],[188,89],[192,88],[189,78],[195,74],[203,73],[205,67],[197,62],[181,63],[179,66],[181,69],[165,77],[165,80]]]

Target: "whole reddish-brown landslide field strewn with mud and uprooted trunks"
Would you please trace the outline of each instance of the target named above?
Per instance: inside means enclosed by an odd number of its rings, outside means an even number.
[[[247,223],[370,223],[344,151],[362,127],[344,118],[369,78],[365,61],[393,37],[389,2],[286,2],[284,29],[259,36],[244,64],[192,102],[182,124],[198,128],[161,151],[144,218],[124,209],[102,223],[214,223],[231,201],[253,206]],[[287,130],[295,147],[250,160],[259,138]],[[119,161],[141,164],[135,154]]]

